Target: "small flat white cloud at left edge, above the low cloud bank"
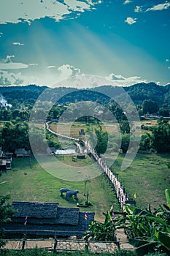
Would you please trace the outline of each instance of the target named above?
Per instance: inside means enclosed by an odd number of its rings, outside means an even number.
[[[28,64],[23,64],[20,62],[12,62],[12,59],[15,58],[14,55],[7,55],[6,59],[1,59],[0,69],[26,69]]]

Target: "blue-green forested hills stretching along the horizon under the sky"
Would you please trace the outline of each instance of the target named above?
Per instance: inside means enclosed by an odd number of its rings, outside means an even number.
[[[45,89],[48,89],[49,99],[57,95],[57,98],[60,99],[62,103],[76,102],[77,100],[106,102],[108,95],[115,97],[122,91],[119,86],[99,86],[86,90],[68,87],[50,89],[47,86],[28,85],[1,86],[0,94],[2,94],[10,104],[12,104],[14,100],[18,100],[18,102],[22,103],[33,103]],[[155,83],[137,83],[133,86],[123,87],[123,89],[129,94],[136,105],[142,104],[146,99],[151,99],[155,101],[158,106],[163,104],[170,106],[170,84],[167,86],[158,86]]]

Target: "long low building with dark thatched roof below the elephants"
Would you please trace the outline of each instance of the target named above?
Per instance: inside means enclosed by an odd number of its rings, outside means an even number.
[[[16,213],[11,222],[3,225],[8,237],[23,236],[24,233],[29,237],[83,236],[88,229],[88,222],[94,220],[93,212],[80,212],[77,207],[60,207],[58,203],[17,201],[12,206]]]

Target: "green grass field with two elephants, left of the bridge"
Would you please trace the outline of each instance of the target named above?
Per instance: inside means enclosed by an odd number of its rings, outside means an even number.
[[[69,157],[66,157],[69,164]],[[92,162],[91,159],[86,159],[88,165]],[[70,157],[70,164],[72,157]],[[74,163],[75,164],[75,163]],[[77,163],[79,166],[81,162]],[[85,162],[82,163],[82,166]],[[25,174],[27,173],[27,174]],[[78,203],[85,204],[86,197],[84,181],[64,181],[50,175],[36,162],[32,157],[32,167],[29,165],[28,158],[18,158],[12,160],[12,170],[7,170],[0,177],[0,192],[1,194],[9,193],[10,200],[26,200],[26,201],[41,201],[41,202],[58,202],[59,206],[77,207],[77,201],[71,198],[69,201],[65,197],[60,196],[62,187],[69,189],[78,189]],[[103,212],[109,210],[110,206],[114,205],[115,210],[119,211],[119,205],[115,193],[107,182],[106,178],[101,174],[88,182],[89,202],[93,206],[88,208],[80,207],[80,211],[95,211],[96,219],[103,220]],[[87,192],[87,190],[86,190]]]

